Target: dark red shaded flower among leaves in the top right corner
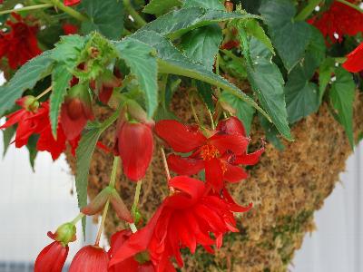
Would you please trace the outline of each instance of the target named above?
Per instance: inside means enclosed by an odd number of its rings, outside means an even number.
[[[321,34],[329,37],[330,42],[334,44],[340,43],[343,35],[354,36],[363,31],[363,14],[348,5],[334,1],[328,11],[309,19],[308,23],[315,25]],[[335,34],[338,34],[338,37],[335,37]]]

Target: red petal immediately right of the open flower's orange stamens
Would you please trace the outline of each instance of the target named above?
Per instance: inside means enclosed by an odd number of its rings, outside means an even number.
[[[208,141],[214,145],[221,154],[226,151],[232,151],[235,155],[241,155],[246,152],[249,145],[249,139],[240,134],[212,136]]]

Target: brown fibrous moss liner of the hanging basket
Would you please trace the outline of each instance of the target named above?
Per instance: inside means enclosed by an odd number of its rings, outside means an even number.
[[[191,111],[185,92],[174,95],[173,112],[183,121],[191,121]],[[362,96],[355,104],[355,131],[363,131]],[[108,110],[98,109],[101,118]],[[359,114],[360,113],[360,114]],[[114,127],[106,131],[101,141],[113,146]],[[319,112],[299,121],[292,128],[293,142],[284,142],[286,149],[277,151],[271,144],[260,163],[249,170],[250,178],[231,187],[240,204],[254,203],[239,222],[240,233],[224,238],[223,247],[209,255],[199,250],[195,256],[186,254],[182,271],[286,271],[296,249],[301,247],[307,232],[314,230],[313,215],[320,209],[345,170],[352,153],[345,132],[334,120],[327,104]],[[252,139],[262,136],[259,127],[252,128]],[[155,144],[152,166],[143,180],[141,211],[149,219],[168,190],[159,144]],[[74,158],[67,159],[74,170]],[[97,150],[93,154],[88,193],[91,199],[108,184],[113,156]],[[136,184],[119,175],[117,189],[131,207]],[[109,213],[106,232],[124,228],[113,213]]]

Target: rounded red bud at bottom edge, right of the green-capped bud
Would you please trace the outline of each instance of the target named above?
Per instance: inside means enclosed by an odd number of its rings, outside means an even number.
[[[87,246],[74,256],[69,272],[107,272],[109,261],[103,248]]]

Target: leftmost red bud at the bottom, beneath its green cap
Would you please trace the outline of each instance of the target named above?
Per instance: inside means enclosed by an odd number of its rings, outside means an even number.
[[[69,248],[59,241],[46,246],[36,257],[34,272],[61,272]]]

